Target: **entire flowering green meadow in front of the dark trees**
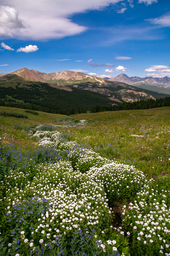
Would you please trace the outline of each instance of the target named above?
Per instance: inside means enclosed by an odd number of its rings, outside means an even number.
[[[1,106],[0,255],[170,255],[169,120]]]

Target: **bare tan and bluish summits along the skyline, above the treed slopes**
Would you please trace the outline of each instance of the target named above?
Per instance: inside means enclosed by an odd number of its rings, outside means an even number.
[[[55,86],[63,85],[74,85],[76,83],[92,82],[99,85],[109,85],[109,81],[121,82],[126,85],[133,85],[141,88],[147,89],[147,86],[156,86],[156,88],[170,88],[170,78],[165,76],[160,77],[129,77],[125,73],[113,77],[112,79],[103,79],[97,76],[90,76],[86,73],[76,72],[76,71],[59,71],[54,73],[43,73],[36,71],[34,69],[20,68],[15,72],[10,73],[0,73],[0,77],[8,74],[14,74],[26,81],[39,81],[48,82],[49,84],[54,84]],[[151,89],[151,88],[150,88]],[[155,89],[154,89],[155,90]]]

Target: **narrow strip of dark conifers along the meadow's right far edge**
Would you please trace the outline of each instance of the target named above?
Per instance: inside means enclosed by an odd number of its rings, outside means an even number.
[[[92,106],[90,113],[104,112],[104,111],[118,111],[118,110],[134,110],[134,109],[154,109],[163,106],[170,106],[170,97],[150,99],[147,101],[140,100],[134,102],[124,102],[118,105],[110,106]]]

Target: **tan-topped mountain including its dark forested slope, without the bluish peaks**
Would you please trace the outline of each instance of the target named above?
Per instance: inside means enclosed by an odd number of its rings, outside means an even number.
[[[78,112],[97,105],[117,105],[123,102],[150,100],[169,96],[119,81],[92,77],[85,73],[61,71],[42,73],[22,68],[0,74],[0,100],[13,105],[39,106],[45,110]]]

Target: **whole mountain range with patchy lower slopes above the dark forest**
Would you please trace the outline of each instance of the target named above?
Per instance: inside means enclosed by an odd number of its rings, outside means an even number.
[[[107,96],[109,101],[112,101],[112,104],[169,96],[170,92],[168,93],[168,86],[170,85],[170,79],[168,77],[164,77],[164,80],[161,80],[162,83],[163,81],[166,83],[164,86],[167,87],[162,88],[165,92],[160,91],[159,88],[159,93],[155,88],[150,89],[147,86],[146,88],[141,88],[137,84],[141,82],[143,85],[143,81],[146,83],[148,79],[151,81],[153,78],[145,77],[145,79],[142,80],[141,77],[128,77],[125,74],[121,74],[108,80],[108,77],[103,79],[82,72],[60,71],[56,73],[44,73],[34,69],[21,68],[15,72],[0,73],[0,87],[3,86],[7,88],[11,86],[17,89],[18,87],[24,87],[25,84],[32,86],[33,82],[41,82],[48,84],[50,87],[67,90],[69,92],[74,89],[81,89],[103,94],[103,96]],[[157,85],[159,80],[157,79],[156,81]],[[154,83],[154,81],[152,81],[152,83]],[[161,86],[162,84],[160,84],[160,87]],[[103,102],[101,102],[101,105],[103,105]]]

